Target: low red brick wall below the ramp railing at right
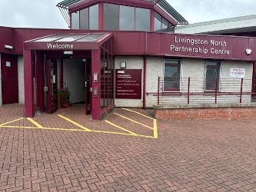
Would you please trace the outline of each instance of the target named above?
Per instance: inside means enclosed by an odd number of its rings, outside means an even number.
[[[155,118],[172,119],[256,119],[256,108],[155,109]]]

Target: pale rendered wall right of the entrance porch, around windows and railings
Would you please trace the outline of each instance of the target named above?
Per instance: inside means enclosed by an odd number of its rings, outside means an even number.
[[[147,58],[147,73],[146,73],[146,108],[151,108],[153,104],[157,104],[157,97],[152,93],[158,91],[158,77],[162,78],[163,76],[163,59],[161,57],[148,57]],[[168,58],[170,59],[170,58]],[[120,68],[119,64],[121,61],[127,62],[127,68],[142,68],[142,90],[141,90],[141,100],[133,99],[115,99],[115,106],[117,107],[142,107],[142,95],[143,95],[143,58],[142,57],[116,57],[115,58],[115,69]],[[200,78],[200,81],[192,82],[190,91],[204,92],[204,67],[205,59],[196,59],[196,58],[182,58],[181,59],[181,78],[187,79],[190,77]],[[230,78],[231,68],[244,68],[245,77],[244,81],[251,81],[253,64],[248,61],[221,61],[221,78],[227,78],[231,80],[235,86],[236,90],[228,90],[227,84],[220,81],[220,91],[240,91],[241,78]],[[248,84],[248,83],[247,83]],[[194,87],[193,87],[194,86]],[[188,91],[188,81],[181,81],[181,92]],[[198,89],[201,88],[201,89]],[[193,90],[194,89],[194,90]],[[237,90],[239,89],[239,90]],[[243,91],[251,91],[251,86],[245,88]],[[190,103],[198,103],[198,98],[200,98],[200,103],[214,103],[214,95],[202,95],[202,96],[191,96]],[[186,96],[166,96],[166,100],[169,100],[170,104],[187,104],[188,98]],[[221,95],[218,97],[218,103],[238,103],[240,95]],[[242,102],[251,102],[251,95],[243,95]]]

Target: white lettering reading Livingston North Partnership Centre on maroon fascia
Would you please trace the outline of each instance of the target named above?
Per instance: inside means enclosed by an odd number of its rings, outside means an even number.
[[[204,55],[208,53],[211,55],[230,55],[231,54],[231,52],[226,48],[227,47],[226,41],[216,41],[213,39],[210,39],[208,41],[208,40],[202,40],[200,38],[181,38],[181,37],[175,36],[175,43],[177,43],[178,45],[171,45],[170,46],[171,51],[201,53]],[[188,44],[188,45],[185,46],[185,44]]]

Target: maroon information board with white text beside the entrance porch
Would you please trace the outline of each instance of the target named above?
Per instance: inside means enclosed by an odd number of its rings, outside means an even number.
[[[115,98],[141,99],[141,69],[115,70]]]

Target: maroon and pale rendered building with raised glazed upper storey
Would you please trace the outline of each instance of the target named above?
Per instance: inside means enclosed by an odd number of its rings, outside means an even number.
[[[25,117],[57,111],[65,86],[95,120],[115,106],[251,104],[256,38],[175,33],[188,22],[165,0],[58,7],[71,29],[0,28],[0,104],[24,103]]]

